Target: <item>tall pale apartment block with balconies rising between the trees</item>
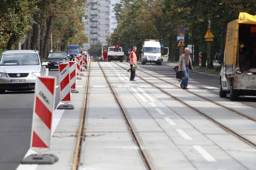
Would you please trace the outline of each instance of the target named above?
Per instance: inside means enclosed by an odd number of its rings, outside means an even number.
[[[101,43],[108,45],[106,39],[117,26],[114,7],[120,0],[89,0],[90,6],[85,8],[88,19],[83,18],[84,33],[88,35],[88,43],[82,49],[90,49],[91,45]]]

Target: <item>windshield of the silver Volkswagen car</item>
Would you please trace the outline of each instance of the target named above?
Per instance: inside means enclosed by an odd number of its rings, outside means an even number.
[[[39,65],[36,54],[2,54],[0,65]]]

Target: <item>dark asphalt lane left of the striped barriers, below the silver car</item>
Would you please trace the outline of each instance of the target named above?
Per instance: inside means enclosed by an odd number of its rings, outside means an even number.
[[[58,69],[49,76],[58,76]],[[56,85],[59,78],[56,78]],[[15,170],[30,148],[34,90],[0,94],[0,170]],[[60,102],[56,89],[55,107]]]

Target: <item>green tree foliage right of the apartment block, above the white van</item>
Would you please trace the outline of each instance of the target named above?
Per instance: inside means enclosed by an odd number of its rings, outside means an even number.
[[[228,22],[238,19],[239,12],[256,15],[255,0],[122,0],[120,3],[115,8],[118,26],[110,35],[110,43],[118,42],[125,51],[135,45],[138,53],[145,39],[159,39],[174,55],[175,49],[178,51],[177,30],[183,26],[185,45],[194,40],[194,50],[205,54],[204,35],[210,27],[215,36],[211,43],[213,56],[216,51],[224,50]]]

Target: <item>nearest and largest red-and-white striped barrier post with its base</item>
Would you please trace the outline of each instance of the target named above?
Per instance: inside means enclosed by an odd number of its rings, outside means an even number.
[[[53,76],[38,76],[36,79],[30,149],[38,154],[27,156],[22,164],[53,164],[58,161],[53,154],[42,154],[50,149],[55,86],[56,78]]]

